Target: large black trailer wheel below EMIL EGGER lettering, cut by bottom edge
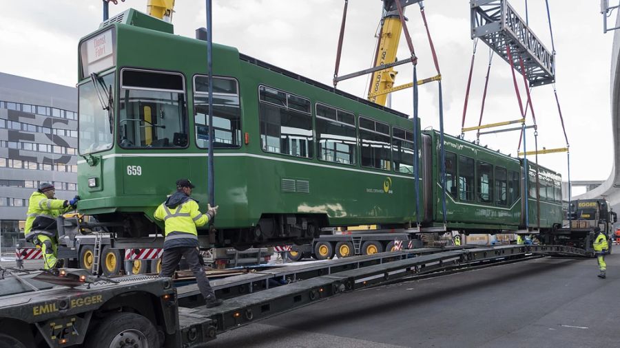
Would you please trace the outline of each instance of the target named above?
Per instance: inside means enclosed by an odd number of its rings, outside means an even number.
[[[87,336],[84,347],[159,347],[159,339],[151,320],[121,312],[103,318]]]

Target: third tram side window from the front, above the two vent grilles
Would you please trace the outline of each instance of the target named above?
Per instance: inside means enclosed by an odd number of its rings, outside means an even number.
[[[266,86],[258,87],[258,97],[262,150],[311,158],[310,100]]]

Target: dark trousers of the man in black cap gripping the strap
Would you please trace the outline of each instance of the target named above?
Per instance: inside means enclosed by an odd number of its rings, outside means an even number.
[[[189,263],[189,269],[194,272],[196,283],[198,283],[198,289],[200,289],[200,294],[203,294],[205,301],[214,301],[215,293],[211,288],[211,284],[209,284],[207,275],[205,275],[205,269],[200,265],[198,248],[179,247],[164,249],[161,257],[161,273],[159,276],[172,276],[181,257],[185,257],[185,260]]]

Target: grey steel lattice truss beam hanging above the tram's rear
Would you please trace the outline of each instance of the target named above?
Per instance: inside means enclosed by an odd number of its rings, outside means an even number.
[[[555,52],[550,52],[506,0],[471,0],[471,38],[484,41],[496,54],[525,75],[530,87],[555,82]]]

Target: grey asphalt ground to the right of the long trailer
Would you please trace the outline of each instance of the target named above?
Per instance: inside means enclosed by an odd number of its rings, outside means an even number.
[[[209,347],[618,347],[620,254],[544,258],[340,294]]]

